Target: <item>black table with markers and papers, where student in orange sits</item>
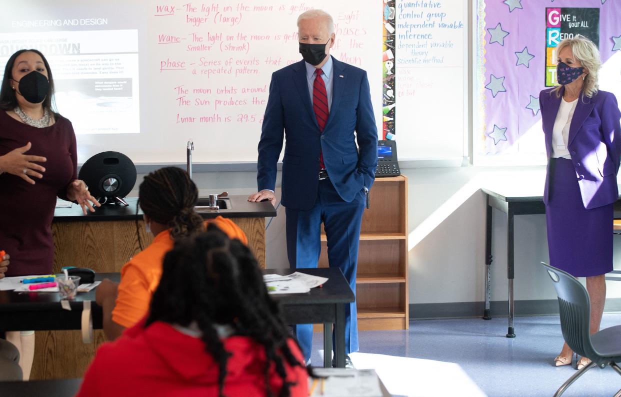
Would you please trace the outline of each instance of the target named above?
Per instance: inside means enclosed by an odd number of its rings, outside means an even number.
[[[345,366],[345,304],[355,301],[345,276],[338,268],[299,269],[303,273],[329,280],[307,294],[273,295],[283,308],[284,319],[291,324],[324,324],[324,351],[332,351],[332,324],[335,328],[337,367]],[[266,269],[265,273],[290,274],[291,269]],[[119,281],[119,273],[97,273],[97,281],[109,278]],[[60,297],[53,292],[0,291],[0,330],[79,330],[84,301],[93,301],[93,328],[102,328],[101,307],[94,303],[95,289],[79,293],[70,301],[71,311],[62,309]],[[324,354],[324,365],[332,366],[330,353]]]

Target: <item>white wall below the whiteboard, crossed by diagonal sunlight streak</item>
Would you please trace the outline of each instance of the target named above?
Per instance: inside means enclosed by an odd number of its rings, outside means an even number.
[[[540,169],[534,169],[540,172]],[[513,180],[533,172],[507,167],[402,169],[409,182],[410,303],[476,302],[484,299],[485,195],[481,182]],[[137,195],[138,175],[132,195]],[[250,194],[255,172],[195,172],[202,195]],[[540,183],[540,182],[536,182]],[[277,191],[279,197],[279,191]],[[492,301],[507,300],[507,222],[494,210]],[[544,215],[515,217],[515,299],[555,299],[540,261],[548,260]],[[269,268],[288,266],[284,208],[278,208],[266,233]],[[615,268],[621,269],[621,237],[615,238]],[[621,297],[621,283],[608,281],[608,297]]]

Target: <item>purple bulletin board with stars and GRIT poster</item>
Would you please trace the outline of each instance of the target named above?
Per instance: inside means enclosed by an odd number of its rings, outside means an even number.
[[[599,47],[599,88],[621,101],[621,1],[477,0],[475,4],[475,165],[546,164],[539,93],[546,83],[557,83],[558,54],[549,48],[570,35],[585,35]]]

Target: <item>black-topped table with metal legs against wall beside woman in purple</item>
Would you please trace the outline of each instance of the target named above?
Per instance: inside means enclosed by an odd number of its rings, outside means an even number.
[[[491,264],[492,255],[492,219],[493,208],[501,211],[507,217],[507,280],[509,282],[509,326],[507,338],[515,338],[515,306],[514,306],[514,217],[515,215],[545,214],[543,204],[543,184],[503,184],[481,188],[487,195],[487,212],[485,226],[485,309],[483,319],[491,319],[489,301],[491,295]],[[621,198],[621,196],[620,196]],[[615,203],[615,218],[621,214],[621,202]],[[610,230],[612,233],[612,230]]]

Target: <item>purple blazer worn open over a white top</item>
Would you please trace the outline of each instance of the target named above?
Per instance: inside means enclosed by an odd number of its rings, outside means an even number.
[[[548,88],[539,93],[542,111],[545,149],[548,155],[543,202],[548,203],[550,183],[550,156],[552,153],[552,129],[556,113],[561,105],[564,87],[560,96]],[[569,126],[567,148],[576,169],[576,179],[587,210],[614,203],[619,198],[617,172],[621,159],[621,112],[617,98],[607,91],[597,91],[588,98],[580,96]]]

